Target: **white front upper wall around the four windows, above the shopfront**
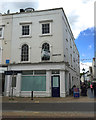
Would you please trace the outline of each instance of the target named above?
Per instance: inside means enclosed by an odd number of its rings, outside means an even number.
[[[51,21],[51,35],[42,36],[40,25],[42,21]],[[21,37],[21,25],[20,23],[28,23],[31,26],[30,37]],[[63,61],[63,46],[62,46],[62,29],[61,29],[61,10],[57,11],[44,11],[33,12],[25,14],[16,14],[13,16],[13,33],[11,44],[11,63],[20,63],[21,46],[26,43],[30,47],[30,60],[31,63],[41,62],[41,47],[42,44],[47,42],[50,44],[50,52],[52,62]],[[20,31],[20,32],[18,32]],[[16,50],[16,54],[15,53]],[[52,56],[54,54],[60,54],[59,56]]]

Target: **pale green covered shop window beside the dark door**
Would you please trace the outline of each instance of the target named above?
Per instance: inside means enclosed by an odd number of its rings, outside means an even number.
[[[21,91],[46,91],[46,76],[22,76]]]

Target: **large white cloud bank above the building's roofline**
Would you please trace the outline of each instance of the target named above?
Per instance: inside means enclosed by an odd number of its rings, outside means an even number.
[[[63,7],[75,38],[77,38],[81,31],[94,26],[94,1],[95,0],[2,0],[2,2],[22,2],[22,4],[24,2],[36,3],[38,4],[38,7],[36,7],[38,10]],[[8,8],[8,4],[0,5],[1,10],[6,9],[6,6]],[[29,7],[29,4],[27,7]],[[10,6],[9,9],[15,9],[15,6]]]

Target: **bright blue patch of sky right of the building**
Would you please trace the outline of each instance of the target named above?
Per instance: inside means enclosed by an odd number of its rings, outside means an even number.
[[[83,62],[92,61],[94,57],[94,28],[81,31],[75,43],[80,53],[80,60]]]

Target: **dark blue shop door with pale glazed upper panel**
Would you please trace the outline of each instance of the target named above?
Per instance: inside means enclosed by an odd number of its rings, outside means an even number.
[[[55,75],[51,78],[52,97],[60,97],[60,76]]]

